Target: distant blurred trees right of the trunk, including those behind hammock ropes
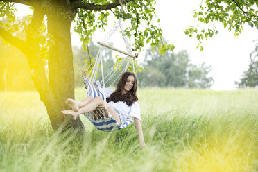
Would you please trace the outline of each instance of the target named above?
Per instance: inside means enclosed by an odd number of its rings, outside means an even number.
[[[89,55],[94,57],[98,52],[98,46],[90,43],[89,53],[83,49],[74,46],[74,70],[76,86],[83,85],[81,81],[80,70],[83,68],[85,59]],[[115,65],[115,59],[112,58],[112,51],[105,49],[104,57],[104,74]],[[146,51],[144,70],[137,73],[140,87],[190,87],[190,88],[209,88],[214,83],[209,72],[212,70],[205,62],[201,65],[194,65],[189,59],[187,51],[178,53],[169,52],[166,55],[152,53],[150,49]],[[107,83],[107,86],[110,83]]]

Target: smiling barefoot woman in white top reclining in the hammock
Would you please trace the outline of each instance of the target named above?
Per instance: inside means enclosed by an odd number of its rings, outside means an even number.
[[[83,73],[87,74],[87,71]],[[101,94],[105,94],[105,102],[100,96],[93,98],[88,96],[82,101],[74,101],[73,99],[67,99],[66,103],[72,110],[63,110],[62,113],[69,115],[72,119],[76,120],[80,114],[92,112],[98,106],[107,105],[107,110],[119,123],[123,124],[127,117],[133,117],[135,119],[135,127],[139,135],[141,147],[146,146],[144,142],[144,135],[141,128],[141,114],[139,109],[137,92],[137,77],[134,73],[126,71],[123,73],[117,83],[117,89],[112,92],[110,89],[96,88]]]

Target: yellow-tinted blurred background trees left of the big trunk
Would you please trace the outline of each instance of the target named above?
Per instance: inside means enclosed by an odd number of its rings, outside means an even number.
[[[8,21],[3,19],[3,22]],[[28,24],[28,17],[17,18],[16,23]],[[25,38],[22,29],[18,29],[15,34],[22,39]],[[0,39],[0,90],[24,91],[32,89],[35,90],[35,86],[31,80],[25,55]]]

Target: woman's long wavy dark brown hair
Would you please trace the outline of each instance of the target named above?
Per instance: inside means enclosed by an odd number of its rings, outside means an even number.
[[[130,89],[129,92],[122,95],[122,90],[126,85],[128,76],[133,76],[135,78],[135,83],[133,84],[133,87]],[[117,89],[110,95],[110,97],[107,98],[107,102],[114,101],[114,103],[117,103],[118,101],[123,101],[123,102],[126,102],[127,105],[132,105],[132,103],[135,103],[136,101],[138,101],[136,91],[137,91],[137,77],[134,73],[130,71],[126,71],[119,79],[119,82],[117,83]]]

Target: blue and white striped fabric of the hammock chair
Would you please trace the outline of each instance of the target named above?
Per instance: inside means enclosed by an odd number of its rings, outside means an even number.
[[[98,92],[98,90],[92,84],[89,83],[89,81],[86,79],[86,76],[83,76],[83,82],[84,82],[85,88],[88,89],[87,96],[93,96],[94,98],[96,98],[97,96],[101,96],[101,98],[104,100],[103,94]],[[95,82],[94,85],[96,87],[102,87],[100,82],[99,83]],[[128,118],[126,119],[125,123],[120,125],[111,115],[108,115],[109,117],[105,117],[103,119],[94,119],[90,112],[84,115],[85,117],[87,117],[87,119],[89,119],[89,121],[92,122],[95,128],[106,132],[111,132],[115,130],[120,130],[122,128],[126,128],[134,121],[134,119]]]

